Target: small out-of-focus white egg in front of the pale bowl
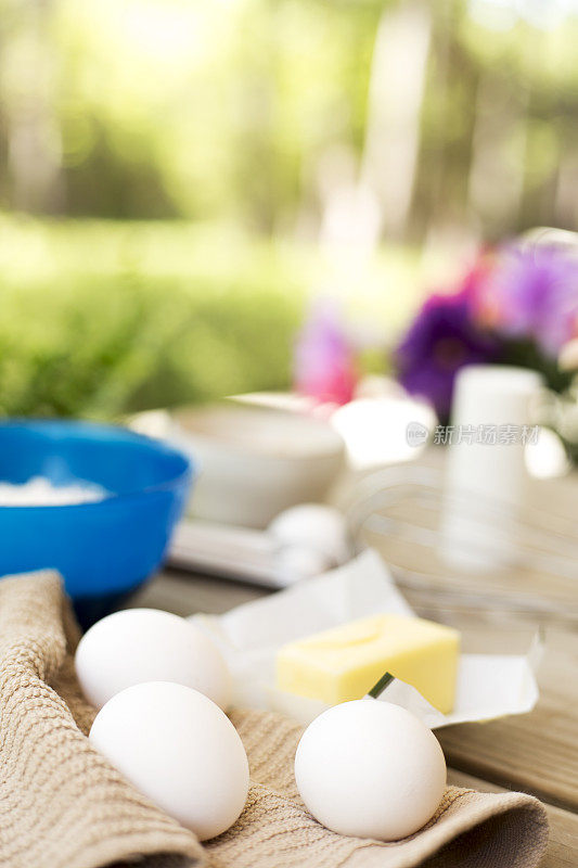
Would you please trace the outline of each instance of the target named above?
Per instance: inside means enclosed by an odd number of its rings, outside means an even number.
[[[267,532],[281,547],[313,549],[333,564],[344,563],[349,557],[345,518],[323,503],[291,507],[273,519]]]

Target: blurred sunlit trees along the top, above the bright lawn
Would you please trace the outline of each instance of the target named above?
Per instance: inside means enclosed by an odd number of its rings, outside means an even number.
[[[431,41],[423,81],[409,82],[422,93],[419,117],[388,117],[408,82],[391,72],[378,80],[376,37],[397,39],[396,18],[420,3]],[[371,168],[369,95],[380,93],[372,148],[385,155],[384,209],[398,171],[390,142],[403,150],[406,136],[411,152],[419,126],[415,173],[410,159],[401,177],[412,201],[397,227],[388,220],[393,237],[574,228],[578,17],[568,8],[552,28],[518,16],[494,29],[471,10],[467,0],[0,0],[0,206],[229,219],[312,239],[330,188]]]

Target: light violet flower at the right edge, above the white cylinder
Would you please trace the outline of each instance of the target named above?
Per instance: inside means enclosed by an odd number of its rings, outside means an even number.
[[[536,341],[556,357],[577,334],[578,259],[553,246],[508,247],[480,297],[494,330]]]

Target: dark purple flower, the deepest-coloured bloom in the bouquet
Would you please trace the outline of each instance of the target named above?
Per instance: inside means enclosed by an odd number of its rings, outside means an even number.
[[[475,320],[477,281],[474,270],[460,292],[431,295],[395,354],[400,383],[410,394],[429,400],[442,420],[450,412],[458,370],[494,361],[499,355],[498,341]]]

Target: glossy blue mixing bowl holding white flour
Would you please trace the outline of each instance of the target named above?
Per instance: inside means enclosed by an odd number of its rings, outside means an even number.
[[[0,423],[0,481],[95,483],[103,500],[0,506],[0,575],[54,567],[84,626],[162,563],[193,469],[181,452],[123,427],[60,420]]]

